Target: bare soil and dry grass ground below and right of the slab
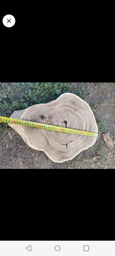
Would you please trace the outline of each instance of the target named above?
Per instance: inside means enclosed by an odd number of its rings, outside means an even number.
[[[74,83],[76,88],[86,83]],[[96,143],[70,161],[54,163],[44,152],[27,146],[21,136],[6,124],[0,134],[0,168],[2,169],[115,169],[115,149],[106,147],[103,132],[115,139],[115,83],[87,83],[85,100],[95,115],[98,129]],[[114,140],[115,141],[115,140]]]

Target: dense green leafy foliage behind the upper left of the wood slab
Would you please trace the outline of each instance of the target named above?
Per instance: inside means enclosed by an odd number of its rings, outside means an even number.
[[[4,83],[0,84],[0,116],[11,116],[14,110],[49,103],[61,94],[71,92],[84,99],[88,86],[72,83]]]

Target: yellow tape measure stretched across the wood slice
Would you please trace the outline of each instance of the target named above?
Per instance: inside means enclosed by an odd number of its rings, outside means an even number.
[[[41,123],[36,123],[36,122],[32,122],[32,121],[25,121],[25,120],[9,118],[9,117],[5,117],[5,116],[0,116],[0,122],[10,123],[10,124],[21,124],[21,125],[27,125],[27,126],[36,127],[36,128],[39,127],[42,129],[47,129],[47,130],[52,130],[52,131],[75,133],[75,134],[79,134],[79,135],[85,135],[85,136],[91,136],[91,137],[98,138],[98,133],[95,133],[95,132],[85,132],[85,131],[75,130],[75,129],[71,129],[71,128],[54,126],[54,125],[50,125],[50,124],[41,124]]]

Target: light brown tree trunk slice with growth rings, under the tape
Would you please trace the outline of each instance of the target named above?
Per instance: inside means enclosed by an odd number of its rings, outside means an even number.
[[[88,103],[73,93],[64,93],[46,104],[14,111],[10,118],[56,125],[88,132],[98,132],[94,114]],[[31,148],[42,150],[56,163],[73,159],[91,147],[96,138],[49,131],[41,128],[9,124]]]

